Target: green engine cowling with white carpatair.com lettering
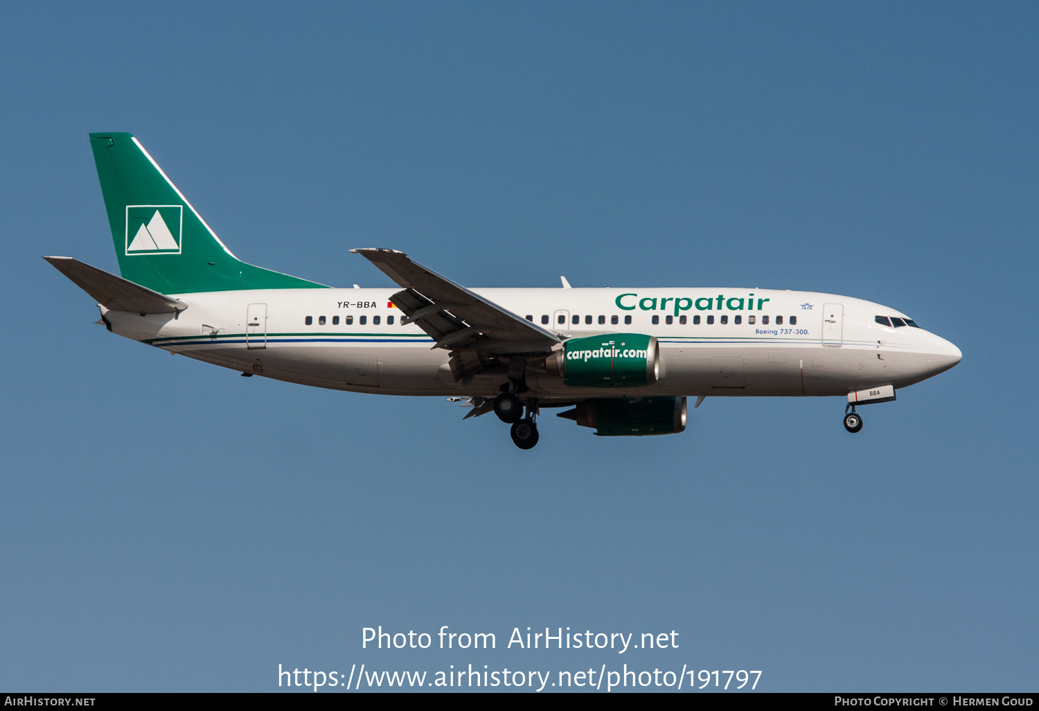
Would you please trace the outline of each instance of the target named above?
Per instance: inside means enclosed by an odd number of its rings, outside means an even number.
[[[550,375],[583,388],[641,388],[657,381],[660,348],[654,336],[606,334],[571,338],[544,362]]]

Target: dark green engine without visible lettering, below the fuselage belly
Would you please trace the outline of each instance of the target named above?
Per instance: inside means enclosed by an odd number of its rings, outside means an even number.
[[[676,434],[686,429],[685,397],[597,398],[579,402],[559,417],[594,427],[600,437]]]

